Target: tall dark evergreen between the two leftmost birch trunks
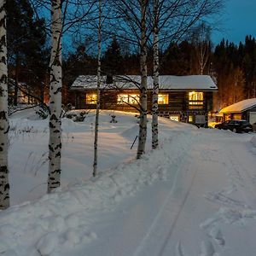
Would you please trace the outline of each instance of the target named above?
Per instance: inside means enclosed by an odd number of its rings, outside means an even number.
[[[7,12],[9,74],[15,79],[14,104],[17,105],[20,81],[27,84],[26,92],[43,101],[42,81],[49,61],[44,20],[35,18],[28,0],[9,0]]]

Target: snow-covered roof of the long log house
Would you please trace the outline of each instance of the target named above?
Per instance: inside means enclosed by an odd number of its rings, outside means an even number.
[[[79,76],[72,84],[72,90],[95,90],[96,76]],[[138,75],[120,75],[113,77],[113,84],[107,84],[107,76],[102,76],[101,88],[108,89],[137,89],[141,82]],[[148,76],[148,89],[153,88],[153,79]],[[218,90],[218,87],[207,75],[191,76],[160,76],[160,89],[162,90]]]

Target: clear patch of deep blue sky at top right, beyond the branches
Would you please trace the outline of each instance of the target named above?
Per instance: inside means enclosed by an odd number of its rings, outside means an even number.
[[[212,32],[215,44],[228,39],[238,44],[246,35],[256,37],[256,0],[226,0],[226,7],[219,25],[220,32]]]

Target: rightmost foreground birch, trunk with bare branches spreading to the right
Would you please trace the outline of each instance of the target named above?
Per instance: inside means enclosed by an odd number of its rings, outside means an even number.
[[[160,42],[179,40],[195,26],[198,20],[216,14],[222,8],[222,0],[153,0],[153,100],[152,100],[152,148],[158,147],[158,93],[160,86]],[[160,37],[161,32],[161,37]]]

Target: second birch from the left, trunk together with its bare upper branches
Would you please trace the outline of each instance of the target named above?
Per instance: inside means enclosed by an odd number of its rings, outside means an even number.
[[[49,176],[48,192],[61,185],[61,38],[86,24],[94,14],[96,0],[31,0],[36,15],[50,10],[51,55],[49,62]],[[47,17],[47,15],[46,15]],[[49,24],[49,20],[47,22]],[[48,30],[48,26],[46,26]]]

